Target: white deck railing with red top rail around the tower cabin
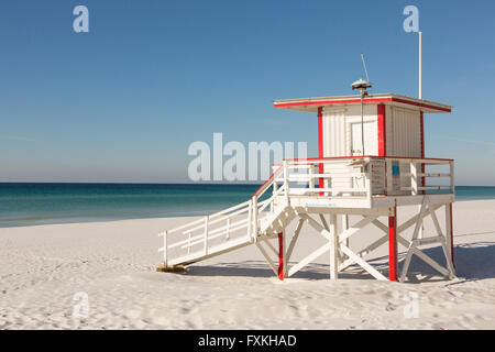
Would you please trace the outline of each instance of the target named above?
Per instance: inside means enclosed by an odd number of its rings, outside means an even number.
[[[428,170],[427,168],[446,168]],[[454,163],[443,158],[352,156],[287,160],[274,165],[273,188],[282,185],[286,197],[365,198],[416,196],[430,190],[455,194]],[[322,173],[320,172],[322,170]],[[440,178],[438,185],[428,180]],[[317,186],[318,185],[318,186]]]

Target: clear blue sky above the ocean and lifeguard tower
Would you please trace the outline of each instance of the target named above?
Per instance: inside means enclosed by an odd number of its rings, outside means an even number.
[[[73,31],[89,9],[90,32]],[[457,160],[459,185],[495,185],[495,2],[2,1],[0,182],[185,182],[194,141],[307,141],[312,114],[272,100],[417,96],[415,4],[424,32],[426,152]],[[360,24],[358,26],[356,24]]]

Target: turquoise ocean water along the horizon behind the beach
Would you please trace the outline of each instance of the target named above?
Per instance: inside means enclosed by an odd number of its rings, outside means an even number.
[[[0,228],[211,213],[260,185],[0,183]],[[495,199],[495,187],[457,187],[457,200]]]

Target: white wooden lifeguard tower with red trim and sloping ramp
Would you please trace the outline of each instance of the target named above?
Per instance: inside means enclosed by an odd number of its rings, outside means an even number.
[[[332,279],[356,264],[377,279],[404,282],[413,255],[443,276],[454,277],[454,164],[449,158],[426,158],[424,133],[425,113],[451,112],[450,106],[394,94],[288,99],[273,105],[317,117],[318,157],[284,160],[248,201],[161,233],[164,263],[158,271],[175,271],[255,245],[280,279],[326,253]],[[316,125],[315,119],[315,132]],[[432,186],[431,179],[440,182]],[[400,207],[415,205],[417,213],[397,223]],[[443,227],[437,217],[442,208]],[[353,223],[351,216],[358,218]],[[424,237],[427,217],[435,224],[435,237]],[[296,230],[288,233],[293,221],[297,221]],[[290,263],[304,226],[316,229],[324,244],[300,262]],[[364,249],[351,249],[349,239],[367,227],[378,228],[383,235]],[[409,241],[403,232],[411,227]],[[278,249],[271,239],[278,240]],[[385,274],[365,260],[384,244],[388,244]],[[397,271],[399,244],[407,250],[402,273]],[[446,266],[421,251],[432,244],[441,246]]]

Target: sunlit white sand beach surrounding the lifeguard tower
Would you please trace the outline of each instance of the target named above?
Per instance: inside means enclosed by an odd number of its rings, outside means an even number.
[[[0,329],[495,328],[495,200],[454,204],[457,279],[415,257],[405,284],[378,282],[359,268],[332,282],[328,255],[279,282],[255,246],[184,274],[155,272],[157,233],[189,220],[0,229]],[[432,232],[427,222],[426,234]],[[351,246],[377,234],[370,228]],[[294,260],[322,238],[305,228],[300,241]],[[372,261],[378,270],[386,268],[386,253],[384,245]],[[426,253],[442,263],[440,249]],[[87,318],[73,316],[80,292],[89,298]],[[407,314],[413,304],[414,316]]]

